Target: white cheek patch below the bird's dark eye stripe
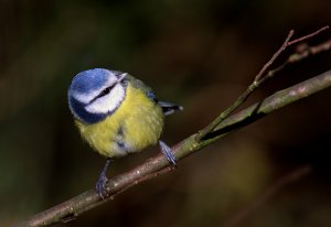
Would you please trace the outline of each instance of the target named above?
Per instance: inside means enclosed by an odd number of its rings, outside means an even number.
[[[115,110],[125,98],[125,89],[117,84],[108,95],[97,98],[85,109],[90,114],[107,114]]]

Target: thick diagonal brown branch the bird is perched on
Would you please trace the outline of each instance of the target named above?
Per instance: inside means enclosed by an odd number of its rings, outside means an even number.
[[[214,134],[209,137],[206,140],[197,142],[195,140],[196,134],[192,134],[172,148],[174,154],[178,160],[181,160],[215,142],[236,129],[252,123],[287,105],[313,95],[320,90],[327,89],[328,87],[331,87],[331,71],[291,86],[287,89],[277,91],[263,101],[252,105],[250,107],[226,118],[221,125],[217,126],[216,131],[213,132]],[[84,212],[113,199],[115,196],[130,188],[131,186],[172,170],[173,167],[169,165],[169,162],[166,160],[166,158],[159,154],[148,160],[143,164],[110,179],[107,183],[107,192],[110,196],[106,199],[100,199],[95,190],[89,190],[62,204],[58,204],[57,206],[36,214],[35,216],[32,216],[30,219],[17,226],[49,226],[55,223],[68,221]]]

